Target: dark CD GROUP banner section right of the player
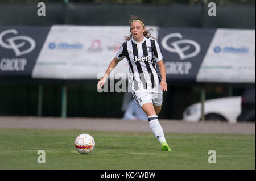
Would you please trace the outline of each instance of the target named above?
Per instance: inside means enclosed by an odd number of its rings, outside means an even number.
[[[170,81],[196,81],[197,71],[216,30],[159,28],[159,46]]]

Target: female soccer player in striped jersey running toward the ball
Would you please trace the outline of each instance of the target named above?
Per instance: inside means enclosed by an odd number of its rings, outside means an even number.
[[[97,87],[102,89],[110,71],[117,66],[119,61],[126,58],[129,63],[129,85],[133,91],[133,98],[146,113],[151,131],[162,144],[162,150],[171,151],[157,116],[162,107],[163,91],[167,91],[163,57],[158,43],[148,32],[149,30],[146,30],[144,20],[131,16],[129,23],[131,35],[125,36],[126,42],[122,43],[104,77],[98,81]],[[162,79],[156,70],[155,62],[159,66]]]

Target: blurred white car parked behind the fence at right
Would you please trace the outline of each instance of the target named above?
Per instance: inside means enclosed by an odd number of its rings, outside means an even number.
[[[204,102],[205,120],[221,120],[236,123],[241,113],[241,96],[209,99]],[[193,104],[183,112],[184,121],[198,122],[201,120],[201,102]]]

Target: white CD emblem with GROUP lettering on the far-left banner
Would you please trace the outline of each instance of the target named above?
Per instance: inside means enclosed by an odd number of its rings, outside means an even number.
[[[6,30],[0,33],[0,46],[6,49],[12,49],[15,56],[22,56],[32,52],[36,43],[35,40],[28,36],[11,36],[6,39],[5,35],[18,35],[15,29]],[[2,58],[0,61],[1,71],[24,71],[27,64],[26,58]]]

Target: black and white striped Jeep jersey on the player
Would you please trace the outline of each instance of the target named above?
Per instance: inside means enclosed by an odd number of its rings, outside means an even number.
[[[133,38],[122,43],[116,55],[118,60],[126,57],[129,64],[129,83],[132,91],[159,90],[160,75],[156,69],[156,62],[163,60],[159,45],[154,39],[143,36],[141,42]]]

